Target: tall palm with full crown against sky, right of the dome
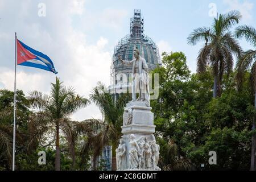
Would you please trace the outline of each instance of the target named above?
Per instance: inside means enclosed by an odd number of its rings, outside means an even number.
[[[197,57],[197,72],[205,72],[210,64],[213,70],[213,97],[221,96],[221,82],[224,73],[233,69],[234,55],[239,57],[241,47],[234,35],[229,31],[239,23],[242,16],[239,11],[230,11],[214,18],[211,27],[196,28],[187,38],[188,44],[205,41]]]

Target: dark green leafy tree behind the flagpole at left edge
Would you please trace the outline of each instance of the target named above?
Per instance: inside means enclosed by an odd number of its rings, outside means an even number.
[[[0,90],[0,167],[11,169],[13,156],[14,92]],[[29,104],[22,90],[16,90],[16,154],[26,151]]]

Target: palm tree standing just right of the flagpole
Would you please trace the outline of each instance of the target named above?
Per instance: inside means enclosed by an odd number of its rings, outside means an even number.
[[[39,110],[30,121],[30,130],[32,133],[30,144],[32,146],[32,144],[38,141],[52,127],[55,129],[56,171],[60,171],[60,130],[69,142],[69,150],[73,154],[72,158],[74,159],[74,142],[77,138],[77,133],[74,133],[74,131],[86,130],[88,127],[82,125],[84,123],[70,121],[69,116],[90,103],[86,98],[82,98],[76,94],[72,87],[66,88],[62,84],[63,82],[60,82],[60,79],[56,77],[56,83],[51,84],[50,96],[34,91],[28,97],[31,105]]]

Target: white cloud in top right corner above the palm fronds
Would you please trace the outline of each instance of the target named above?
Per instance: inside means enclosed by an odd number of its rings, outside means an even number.
[[[239,10],[243,16],[243,20],[251,20],[253,18],[252,10],[254,3],[245,1],[238,1],[238,0],[223,0],[225,4],[229,6],[229,10]]]

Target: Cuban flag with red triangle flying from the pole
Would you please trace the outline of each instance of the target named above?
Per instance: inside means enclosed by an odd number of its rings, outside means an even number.
[[[16,46],[17,65],[40,68],[57,74],[52,60],[47,55],[28,47],[18,39],[16,39]]]

